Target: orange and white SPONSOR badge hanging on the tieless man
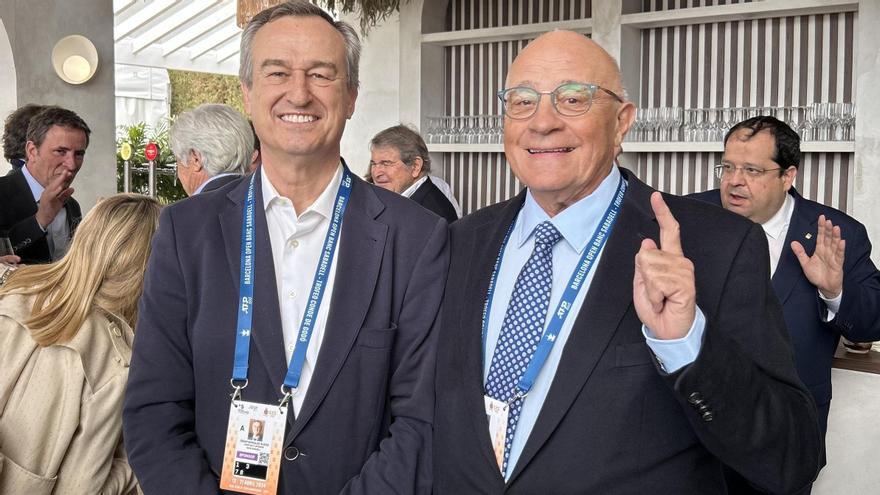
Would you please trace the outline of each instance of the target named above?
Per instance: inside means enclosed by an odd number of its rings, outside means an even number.
[[[220,488],[253,495],[275,495],[287,408],[232,401]]]

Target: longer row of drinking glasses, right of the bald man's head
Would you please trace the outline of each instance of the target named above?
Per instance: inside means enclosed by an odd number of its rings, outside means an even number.
[[[737,123],[758,115],[788,123],[803,141],[851,141],[854,136],[855,105],[826,102],[800,107],[639,108],[627,140],[717,142]]]

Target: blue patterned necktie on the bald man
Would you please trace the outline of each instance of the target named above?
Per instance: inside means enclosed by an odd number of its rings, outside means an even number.
[[[541,341],[553,284],[553,245],[561,238],[562,234],[549,221],[535,227],[535,248],[516,278],[486,377],[486,393],[494,399],[510,401]],[[502,476],[507,473],[522,404],[523,399],[510,402]]]

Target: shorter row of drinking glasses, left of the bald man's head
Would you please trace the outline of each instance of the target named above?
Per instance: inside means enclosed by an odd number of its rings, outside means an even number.
[[[501,115],[444,115],[428,117],[426,143],[495,144],[503,142],[504,117]]]

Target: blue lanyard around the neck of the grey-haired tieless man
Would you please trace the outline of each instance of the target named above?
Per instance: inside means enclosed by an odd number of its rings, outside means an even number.
[[[235,362],[232,368],[232,386],[236,389],[236,393],[247,386],[248,354],[251,343],[251,310],[254,303],[254,176],[256,174],[251,176],[250,184],[248,185],[247,198],[242,214],[238,325],[235,336]],[[321,259],[318,261],[318,266],[315,269],[312,290],[309,291],[309,302],[303,314],[299,332],[297,333],[296,349],[290,359],[287,375],[284,377],[284,385],[281,387],[282,393],[286,397],[289,397],[292,391],[295,391],[299,386],[303,365],[306,360],[306,351],[312,338],[312,330],[314,330],[315,322],[318,319],[318,310],[321,307],[321,300],[323,299],[324,289],[327,286],[330,267],[333,264],[336,242],[339,240],[339,232],[342,228],[342,217],[345,213],[348,198],[351,195],[351,183],[351,172],[348,170],[348,167],[344,167],[342,182],[339,184],[339,190],[336,193],[336,200],[333,206],[330,228],[327,229],[327,236],[324,238]],[[244,383],[236,385],[236,382]],[[285,387],[287,388],[286,391]]]

